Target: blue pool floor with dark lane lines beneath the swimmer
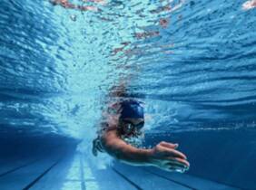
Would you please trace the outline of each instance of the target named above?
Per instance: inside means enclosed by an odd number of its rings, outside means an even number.
[[[81,153],[0,160],[1,190],[231,190],[237,189],[187,174],[119,162],[95,168]]]

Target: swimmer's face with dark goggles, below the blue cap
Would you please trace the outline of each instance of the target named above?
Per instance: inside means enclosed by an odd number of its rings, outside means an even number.
[[[144,119],[120,119],[120,127],[125,135],[138,135],[144,126]]]

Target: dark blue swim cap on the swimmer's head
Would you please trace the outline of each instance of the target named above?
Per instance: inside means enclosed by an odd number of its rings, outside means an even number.
[[[123,100],[121,102],[121,119],[144,119],[144,109],[136,100]]]

